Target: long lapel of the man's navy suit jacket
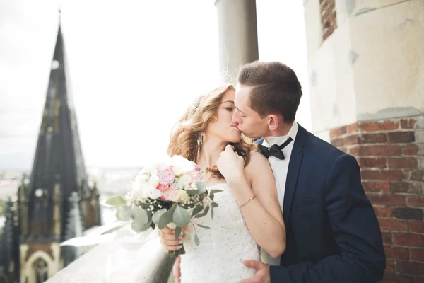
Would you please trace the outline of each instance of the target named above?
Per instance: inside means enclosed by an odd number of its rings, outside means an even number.
[[[290,207],[295,195],[296,184],[298,183],[298,175],[300,164],[302,163],[303,147],[307,139],[307,130],[299,125],[298,134],[296,134],[295,144],[293,145],[290,162],[288,163],[287,179],[285,180],[283,217],[287,225],[290,216]]]

